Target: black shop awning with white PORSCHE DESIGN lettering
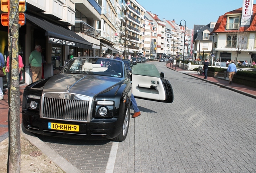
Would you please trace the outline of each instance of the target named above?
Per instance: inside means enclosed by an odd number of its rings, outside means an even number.
[[[93,44],[64,26],[48,22],[47,20],[34,16],[33,14],[26,13],[25,16],[27,20],[33,22],[46,31],[45,36],[48,36],[49,43],[87,49],[93,48]]]

